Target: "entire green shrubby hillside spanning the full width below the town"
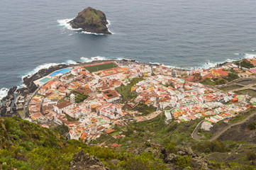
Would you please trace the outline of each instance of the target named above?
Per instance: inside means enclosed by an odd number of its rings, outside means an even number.
[[[109,149],[67,141],[55,130],[20,118],[0,118],[0,169],[254,169],[255,145],[194,142],[190,134],[197,123],[165,125],[162,115],[130,123],[122,140],[102,135],[99,140],[121,144]]]

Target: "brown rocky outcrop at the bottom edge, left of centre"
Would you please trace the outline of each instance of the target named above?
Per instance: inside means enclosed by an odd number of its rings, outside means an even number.
[[[70,163],[70,169],[75,170],[108,170],[104,164],[102,164],[98,158],[93,155],[85,154],[84,150],[81,150],[77,154],[74,154],[73,161]]]

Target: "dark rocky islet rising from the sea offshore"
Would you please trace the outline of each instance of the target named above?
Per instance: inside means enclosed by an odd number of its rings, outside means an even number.
[[[70,21],[69,24],[72,28],[82,28],[82,30],[90,33],[111,34],[106,26],[108,21],[106,21],[105,14],[91,7],[79,12],[77,17]]]

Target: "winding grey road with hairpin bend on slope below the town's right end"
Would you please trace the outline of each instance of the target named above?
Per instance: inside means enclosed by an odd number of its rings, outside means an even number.
[[[214,135],[213,137],[211,137],[211,139],[209,141],[213,141],[213,140],[216,140],[218,139],[218,137],[220,137],[224,132],[226,132],[227,130],[229,130],[230,128],[232,128],[233,126],[235,125],[240,125],[242,123],[245,123],[247,120],[249,120],[250,118],[252,118],[252,116],[256,115],[256,113],[252,113],[251,115],[249,115],[247,118],[237,122],[237,123],[233,123],[231,125],[228,125],[228,127],[226,128],[223,128],[223,130],[221,130],[221,132],[218,132],[216,135]],[[203,141],[203,140],[200,140],[199,139],[199,135],[197,135],[198,131],[199,131],[199,128],[201,128],[201,125],[202,123],[204,122],[204,120],[202,120],[197,126],[196,128],[194,129],[194,131],[192,132],[191,134],[191,137],[196,140],[196,141]]]

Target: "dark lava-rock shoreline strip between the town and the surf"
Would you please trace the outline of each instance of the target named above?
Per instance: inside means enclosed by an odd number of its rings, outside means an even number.
[[[45,77],[48,74],[55,72],[59,69],[65,69],[67,67],[82,66],[84,64],[96,64],[96,63],[101,63],[101,62],[117,62],[118,64],[139,63],[139,64],[148,64],[150,66],[161,66],[161,65],[165,66],[165,64],[162,64],[162,63],[145,63],[145,62],[137,62],[135,60],[123,59],[123,60],[94,60],[91,62],[77,62],[76,64],[58,64],[55,66],[51,66],[47,69],[40,69],[38,72],[36,72],[35,74],[33,74],[31,76],[23,77],[24,86],[21,89],[18,89],[17,86],[13,86],[11,89],[9,89],[7,96],[2,98],[2,100],[1,100],[1,101],[4,101],[3,102],[4,104],[2,104],[0,106],[0,115],[8,116],[8,117],[18,115],[17,111],[21,111],[21,108],[18,108],[18,106],[16,106],[17,101],[28,98],[28,96],[33,94],[38,89],[38,86],[36,86],[33,83],[33,81],[40,79],[42,77]],[[222,67],[223,65],[231,64],[234,62],[235,61],[223,62],[221,64],[216,64],[215,67]],[[215,67],[210,67],[208,69],[213,69]],[[182,69],[182,68],[175,68],[175,67],[168,67],[168,68],[174,69],[175,71],[191,71],[192,70],[192,69]],[[16,97],[14,97],[14,93],[16,94]],[[10,109],[10,106],[13,106],[13,107],[11,107],[11,109]]]

